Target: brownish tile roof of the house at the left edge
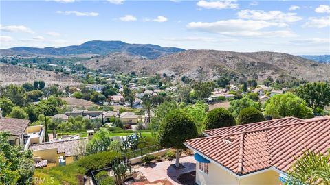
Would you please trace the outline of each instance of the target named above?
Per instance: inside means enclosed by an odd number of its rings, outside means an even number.
[[[22,136],[26,127],[28,127],[30,120],[28,119],[14,119],[14,118],[0,118],[0,131],[9,131],[13,136]]]

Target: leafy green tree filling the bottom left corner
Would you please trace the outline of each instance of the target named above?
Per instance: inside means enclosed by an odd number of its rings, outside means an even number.
[[[34,174],[32,151],[21,151],[8,142],[10,132],[0,132],[0,184],[32,184]]]

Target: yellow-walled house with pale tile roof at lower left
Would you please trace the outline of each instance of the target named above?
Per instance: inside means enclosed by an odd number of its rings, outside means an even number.
[[[74,162],[74,156],[85,153],[88,138],[56,140],[30,145],[34,167],[53,167]]]

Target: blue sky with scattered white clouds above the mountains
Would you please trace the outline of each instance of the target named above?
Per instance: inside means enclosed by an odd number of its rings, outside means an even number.
[[[0,47],[122,40],[184,49],[330,54],[329,1],[0,1]]]

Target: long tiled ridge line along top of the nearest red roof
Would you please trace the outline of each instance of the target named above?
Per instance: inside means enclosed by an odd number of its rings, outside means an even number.
[[[237,134],[246,134],[246,133],[250,133],[250,132],[259,132],[259,131],[263,131],[263,130],[270,130],[272,128],[278,128],[278,127],[287,127],[287,126],[292,126],[292,125],[300,125],[300,124],[304,124],[304,123],[312,123],[312,122],[316,122],[316,121],[323,121],[330,118],[324,118],[324,119],[317,119],[317,120],[310,120],[310,121],[302,121],[302,122],[297,122],[297,123],[289,123],[287,125],[276,125],[276,126],[270,126],[270,127],[264,127],[264,128],[259,128],[259,129],[255,129],[255,130],[248,130],[248,131],[244,131],[244,132],[233,132],[231,134],[221,134],[221,135],[215,135],[215,136],[207,136],[207,137],[203,137],[203,138],[217,138],[217,137],[223,137],[223,136],[231,136],[231,135],[237,135]],[[198,139],[203,139],[203,138],[193,138],[190,140],[198,140]],[[190,141],[190,140],[186,140],[186,141]]]

